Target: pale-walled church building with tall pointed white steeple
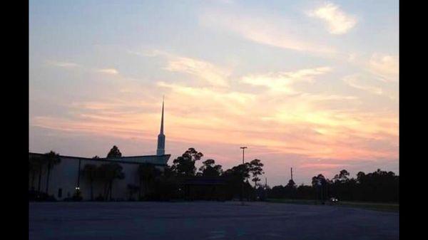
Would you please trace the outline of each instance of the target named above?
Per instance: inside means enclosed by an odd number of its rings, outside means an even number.
[[[30,157],[42,156],[41,153],[29,153]],[[170,158],[170,155],[165,155],[165,135],[163,134],[163,103],[161,117],[161,131],[158,135],[158,149],[156,155],[143,155],[132,157],[116,157],[116,158],[88,158],[88,157],[72,157],[60,155],[61,163],[51,169],[49,176],[49,195],[54,195],[58,200],[72,197],[76,189],[81,191],[83,200],[91,199],[91,186],[82,176],[81,170],[86,164],[103,165],[109,162],[117,162],[123,167],[125,173],[124,179],[116,179],[113,183],[112,198],[127,199],[128,184],[138,185],[138,165],[141,163],[151,163],[156,168],[163,172],[164,167]],[[46,169],[41,175],[41,192],[46,190]],[[39,187],[39,174],[36,174],[35,181],[30,177],[29,189],[34,187],[35,190]],[[33,182],[33,183],[32,183]],[[103,194],[103,186],[98,182],[93,184],[93,196],[98,197]]]

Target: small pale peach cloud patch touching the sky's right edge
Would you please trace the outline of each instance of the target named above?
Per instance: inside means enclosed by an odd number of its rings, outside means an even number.
[[[399,61],[396,56],[373,53],[368,63],[370,71],[385,82],[397,81],[399,77]]]

